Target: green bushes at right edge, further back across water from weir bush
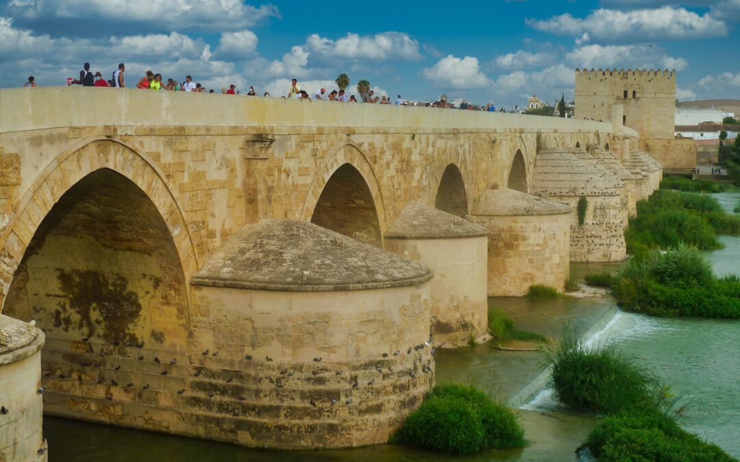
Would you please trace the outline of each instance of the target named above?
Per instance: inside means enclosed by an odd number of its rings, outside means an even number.
[[[682,243],[702,250],[721,248],[717,234],[740,234],[740,217],[725,213],[713,197],[659,190],[637,203],[625,241],[629,254],[642,257],[650,249]]]

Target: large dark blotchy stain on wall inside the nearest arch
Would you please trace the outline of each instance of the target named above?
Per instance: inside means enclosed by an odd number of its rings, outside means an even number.
[[[95,333],[92,313],[97,310],[103,324],[101,336],[106,342],[138,342],[129,327],[141,314],[141,302],[138,293],[128,290],[126,277],[90,270],[57,271],[67,306],[79,316],[78,327],[86,328],[88,336]]]

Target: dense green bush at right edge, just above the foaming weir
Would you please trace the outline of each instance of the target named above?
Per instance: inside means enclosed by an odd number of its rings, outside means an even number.
[[[699,251],[680,245],[633,258],[612,295],[623,308],[653,316],[740,318],[740,281],[717,277]]]

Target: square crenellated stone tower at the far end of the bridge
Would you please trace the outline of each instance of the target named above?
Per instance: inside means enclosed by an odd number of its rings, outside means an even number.
[[[675,69],[576,69],[576,118],[636,129],[640,147],[660,160],[666,170],[696,166],[693,140],[673,136]]]

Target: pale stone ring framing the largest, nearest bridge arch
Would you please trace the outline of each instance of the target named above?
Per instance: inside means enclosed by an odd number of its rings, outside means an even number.
[[[92,137],[56,157],[28,188],[0,237],[0,296],[4,307],[13,275],[41,223],[55,204],[84,177],[107,169],[126,178],[147,197],[166,226],[185,280],[198,271],[198,257],[181,205],[164,174],[132,146],[110,137]],[[187,290],[187,288],[186,288]],[[0,312],[2,309],[0,309]]]

